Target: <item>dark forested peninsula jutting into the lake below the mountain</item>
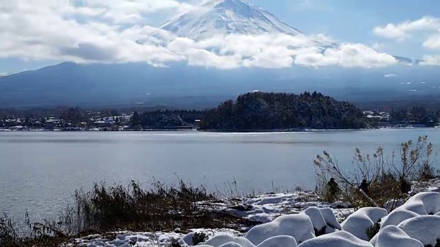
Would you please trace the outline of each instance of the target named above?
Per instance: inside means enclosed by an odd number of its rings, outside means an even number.
[[[208,110],[201,130],[257,131],[371,127],[362,110],[321,93],[245,93]]]

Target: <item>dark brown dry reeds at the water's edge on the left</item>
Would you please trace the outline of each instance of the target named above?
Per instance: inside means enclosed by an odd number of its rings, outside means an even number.
[[[72,237],[121,230],[184,231],[248,224],[239,217],[212,215],[197,202],[216,200],[214,194],[182,181],[172,187],[154,183],[151,189],[142,189],[134,181],[128,187],[101,183],[91,191],[76,191],[74,199],[74,207],[67,207],[56,223],[27,220],[28,229],[22,229],[0,217],[0,246],[58,246]]]

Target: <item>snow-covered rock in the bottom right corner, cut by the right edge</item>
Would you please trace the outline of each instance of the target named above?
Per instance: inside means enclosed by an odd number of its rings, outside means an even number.
[[[408,236],[418,239],[423,245],[435,246],[440,238],[440,216],[421,215],[404,220],[397,227]]]

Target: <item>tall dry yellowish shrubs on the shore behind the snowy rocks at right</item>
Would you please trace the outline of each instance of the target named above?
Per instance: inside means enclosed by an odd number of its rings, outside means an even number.
[[[418,183],[411,187],[413,181],[420,182],[434,178],[434,160],[432,144],[428,137],[417,139],[416,143],[401,143],[399,154],[391,153],[386,157],[383,148],[377,148],[373,155],[363,154],[359,149],[353,156],[353,169],[345,172],[340,169],[338,161],[328,152],[318,155],[314,161],[317,176],[316,191],[325,200],[345,200],[355,207],[378,207],[390,200],[406,200],[412,196]],[[340,186],[336,196],[329,192],[329,178],[335,178]],[[361,181],[369,183],[369,191],[360,189]],[[393,210],[397,205],[391,205]]]

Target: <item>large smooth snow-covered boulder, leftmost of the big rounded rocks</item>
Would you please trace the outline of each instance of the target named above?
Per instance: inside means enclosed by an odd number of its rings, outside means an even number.
[[[246,233],[245,237],[253,244],[258,245],[265,239],[278,235],[294,237],[297,243],[301,243],[315,237],[314,226],[311,224],[309,216],[305,214],[283,215],[273,222],[254,226]]]

